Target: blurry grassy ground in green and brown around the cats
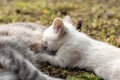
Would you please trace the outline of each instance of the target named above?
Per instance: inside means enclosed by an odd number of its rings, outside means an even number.
[[[0,0],[0,23],[34,22],[46,27],[55,17],[70,15],[81,32],[120,47],[120,0]],[[93,72],[61,69],[43,63],[41,70],[67,80],[100,80]]]

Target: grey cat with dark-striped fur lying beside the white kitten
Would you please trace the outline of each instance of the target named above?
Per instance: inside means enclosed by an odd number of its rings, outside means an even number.
[[[34,56],[49,53],[41,42],[45,29],[25,22],[0,25],[0,80],[62,80],[35,67],[38,63]]]

